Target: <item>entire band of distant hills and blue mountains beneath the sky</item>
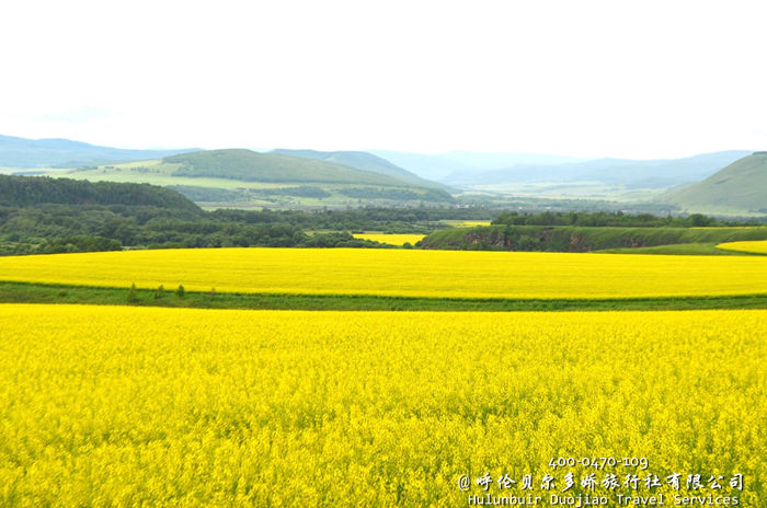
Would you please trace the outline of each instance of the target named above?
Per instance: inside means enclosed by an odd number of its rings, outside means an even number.
[[[271,199],[266,199],[267,205],[300,201],[313,206],[454,203],[455,197],[448,193],[459,189],[495,188],[500,195],[515,195],[515,188],[522,188],[517,184],[522,184],[524,190],[529,190],[527,195],[543,195],[561,184],[568,188],[562,193],[566,196],[577,192],[583,197],[597,196],[589,188],[599,186],[602,195],[597,197],[602,199],[618,199],[631,189],[652,189],[636,194],[644,193],[639,199],[654,196],[655,203],[690,211],[767,212],[767,154],[745,150],[683,159],[583,160],[467,151],[424,154],[391,150],[126,150],[67,139],[0,136],[2,168],[26,169],[27,173],[76,168],[78,171],[66,175],[183,187],[198,201],[217,203],[262,203],[266,198]],[[242,184],[233,185],[231,181]],[[282,183],[298,186],[274,186]]]

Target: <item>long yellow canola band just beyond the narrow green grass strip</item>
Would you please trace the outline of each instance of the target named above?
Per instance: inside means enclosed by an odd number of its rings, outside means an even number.
[[[369,249],[190,249],[0,258],[0,280],[454,298],[764,293],[767,259]]]

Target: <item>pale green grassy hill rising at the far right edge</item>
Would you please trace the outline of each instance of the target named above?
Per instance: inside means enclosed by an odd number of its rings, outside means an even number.
[[[740,159],[702,182],[660,199],[689,211],[767,213],[767,152]]]

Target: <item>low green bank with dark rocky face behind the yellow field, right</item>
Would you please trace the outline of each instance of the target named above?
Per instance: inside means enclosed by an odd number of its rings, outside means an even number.
[[[767,240],[767,228],[490,226],[435,231],[420,244],[424,249],[446,250],[592,252],[742,240]]]

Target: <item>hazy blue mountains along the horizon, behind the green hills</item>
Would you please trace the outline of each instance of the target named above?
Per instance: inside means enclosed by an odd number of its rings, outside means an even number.
[[[67,139],[25,139],[0,136],[0,168],[79,168],[119,162],[163,159],[179,153],[199,151],[198,149],[175,150],[125,150],[110,147],[99,147]],[[208,151],[210,152],[210,151]],[[214,151],[215,152],[215,151]],[[219,151],[220,152],[220,151]],[[277,149],[268,154],[248,151],[249,163],[261,164],[267,161],[275,171],[287,172],[287,181],[300,181],[307,175],[309,166],[299,160],[321,161],[347,169],[389,176],[399,182],[421,187],[449,189],[449,187],[472,188],[477,186],[493,186],[508,183],[540,183],[540,182],[599,182],[607,185],[623,185],[628,187],[665,188],[699,182],[732,162],[752,153],[747,150],[731,150],[684,159],[660,160],[628,160],[628,159],[594,159],[584,160],[569,157],[491,152],[478,153],[453,151],[439,154],[409,153],[392,150],[370,151],[317,151]],[[232,157],[245,152],[231,152]],[[279,157],[300,159],[283,159]],[[202,163],[207,155],[197,160]],[[287,163],[293,161],[295,164]],[[242,162],[242,161],[241,161]],[[231,158],[228,164],[239,164]],[[313,166],[327,181],[332,176],[330,166],[318,164]],[[324,171],[320,171],[324,168]],[[195,174],[199,173],[195,170]],[[208,168],[205,171],[211,171]],[[339,171],[335,166],[334,171]],[[296,173],[294,177],[290,174]],[[190,174],[192,175],[192,174]],[[355,174],[353,180],[373,182],[369,175]],[[274,177],[272,175],[271,181]],[[374,178],[376,180],[376,178]],[[437,181],[439,183],[436,183]],[[377,183],[386,185],[387,181]],[[389,182],[391,183],[391,182]]]

